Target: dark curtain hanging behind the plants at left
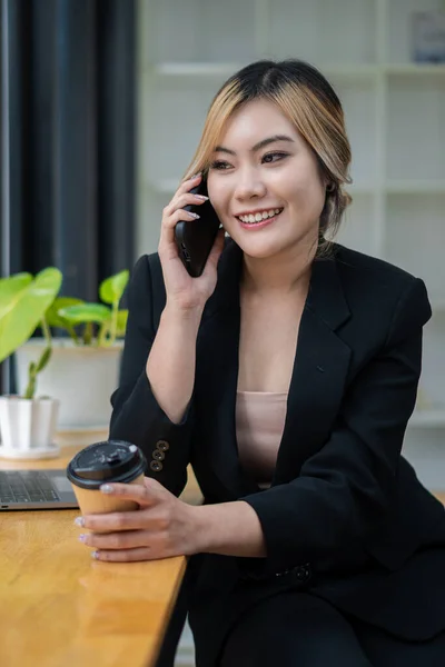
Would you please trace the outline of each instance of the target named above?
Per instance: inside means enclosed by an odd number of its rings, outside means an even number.
[[[135,256],[135,0],[1,2],[1,273],[97,300]]]

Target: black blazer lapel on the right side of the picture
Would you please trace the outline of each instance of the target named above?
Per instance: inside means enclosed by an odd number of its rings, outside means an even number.
[[[349,317],[335,256],[315,260],[299,326],[273,485],[297,477],[305,460],[319,450],[329,436],[352,355],[336,329]]]

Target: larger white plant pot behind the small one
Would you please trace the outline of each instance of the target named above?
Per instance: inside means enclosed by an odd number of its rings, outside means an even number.
[[[37,377],[37,394],[60,401],[58,432],[108,428],[110,396],[118,386],[123,341],[109,348],[76,346],[71,339],[55,338],[52,356]],[[46,342],[31,339],[16,352],[17,384],[23,394],[28,366],[41,355]],[[96,437],[96,436],[95,436]]]

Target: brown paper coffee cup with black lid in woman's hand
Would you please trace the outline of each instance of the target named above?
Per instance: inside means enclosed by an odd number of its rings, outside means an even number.
[[[82,515],[130,511],[134,500],[102,494],[102,484],[141,484],[147,460],[136,445],[123,440],[95,442],[79,451],[68,464],[67,477],[72,485]]]

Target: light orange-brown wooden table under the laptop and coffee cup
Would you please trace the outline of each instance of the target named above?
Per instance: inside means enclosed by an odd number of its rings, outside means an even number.
[[[65,468],[76,448],[0,469]],[[1,667],[152,667],[186,568],[184,557],[93,561],[78,510],[0,515]]]

